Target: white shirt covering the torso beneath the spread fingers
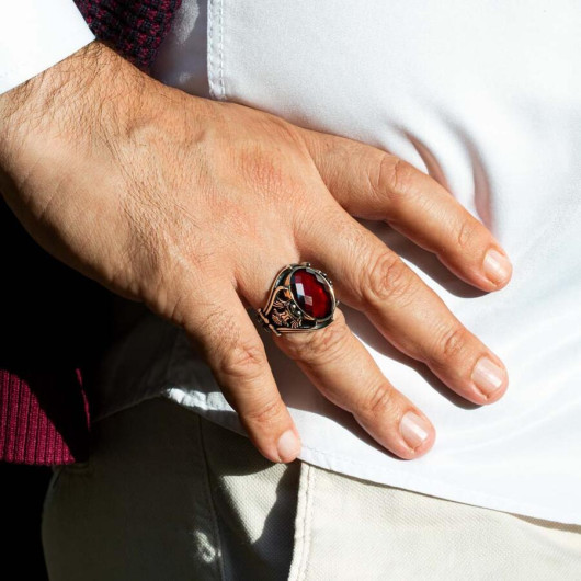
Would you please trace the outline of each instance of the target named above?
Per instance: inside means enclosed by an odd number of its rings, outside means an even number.
[[[513,263],[506,288],[478,296],[385,224],[361,220],[504,361],[510,386],[498,402],[475,407],[342,306],[385,375],[432,420],[436,442],[421,458],[395,458],[263,335],[301,435],[299,458],[443,499],[581,524],[577,1],[548,9],[519,0],[212,0],[207,36],[203,3],[200,11],[183,3],[153,69],[158,78],[371,143],[434,176],[437,170]],[[206,38],[207,60],[200,48]],[[183,332],[146,317],[110,353],[93,420],[158,394],[244,433]]]

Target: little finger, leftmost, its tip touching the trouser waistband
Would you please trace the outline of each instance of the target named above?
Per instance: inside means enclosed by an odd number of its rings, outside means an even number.
[[[300,438],[272,375],[264,344],[229,281],[184,309],[184,327],[204,354],[250,440],[273,462],[292,462]]]

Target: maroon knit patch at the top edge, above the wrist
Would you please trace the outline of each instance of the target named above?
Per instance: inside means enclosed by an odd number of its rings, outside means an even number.
[[[181,0],[75,0],[93,34],[148,70]]]

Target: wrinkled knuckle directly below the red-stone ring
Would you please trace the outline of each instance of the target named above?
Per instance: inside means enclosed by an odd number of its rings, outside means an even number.
[[[335,308],[335,319],[328,327],[311,333],[286,335],[286,351],[292,360],[308,365],[327,365],[344,355],[350,333],[344,317]]]

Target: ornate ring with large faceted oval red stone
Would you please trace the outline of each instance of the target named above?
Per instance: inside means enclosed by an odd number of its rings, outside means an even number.
[[[264,309],[258,320],[276,335],[315,331],[333,321],[335,307],[333,283],[310,262],[287,264],[275,276]]]

